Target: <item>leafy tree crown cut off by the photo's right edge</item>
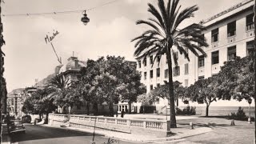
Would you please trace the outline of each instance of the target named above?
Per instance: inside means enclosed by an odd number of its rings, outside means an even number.
[[[219,98],[248,100],[254,95],[253,57],[237,57],[234,61],[225,62],[216,78]]]

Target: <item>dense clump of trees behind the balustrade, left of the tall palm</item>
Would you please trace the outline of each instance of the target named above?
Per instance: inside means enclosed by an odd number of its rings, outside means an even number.
[[[136,62],[128,62],[123,57],[107,56],[98,60],[88,60],[78,74],[78,81],[69,83],[61,74],[50,82],[52,97],[58,106],[73,106],[86,103],[87,114],[90,104],[98,113],[98,104],[109,105],[110,116],[114,116],[114,103],[137,101],[139,94],[146,93],[136,70]]]

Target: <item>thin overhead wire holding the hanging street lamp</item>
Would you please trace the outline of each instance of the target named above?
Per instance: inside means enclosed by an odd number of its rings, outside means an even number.
[[[94,7],[91,7],[89,9],[84,9],[84,10],[66,10],[66,11],[56,11],[56,12],[53,11],[53,12],[42,12],[42,13],[26,13],[26,14],[2,14],[2,17],[81,13],[81,12],[83,12],[85,10],[86,11],[94,10],[94,9],[99,8],[99,7],[109,5],[110,3],[114,3],[114,2],[117,2],[117,1],[119,1],[119,0],[114,0],[114,1],[106,2],[106,3],[103,3],[102,5],[94,6]]]

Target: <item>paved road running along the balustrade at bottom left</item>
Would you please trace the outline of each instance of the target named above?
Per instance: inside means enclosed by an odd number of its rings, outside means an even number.
[[[63,130],[45,126],[26,125],[26,134],[13,134],[11,141],[19,144],[108,144],[109,138],[93,134],[78,132],[74,130]],[[111,144],[130,144],[132,142],[122,142],[110,139]],[[105,143],[104,143],[105,142]]]

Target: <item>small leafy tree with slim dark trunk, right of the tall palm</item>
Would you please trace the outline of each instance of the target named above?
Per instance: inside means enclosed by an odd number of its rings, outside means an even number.
[[[206,117],[209,115],[209,106],[211,102],[216,102],[218,92],[216,90],[216,78],[200,79],[191,85],[187,92],[187,96],[198,103],[206,103]]]

